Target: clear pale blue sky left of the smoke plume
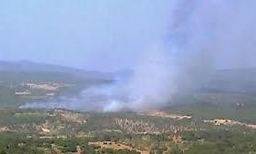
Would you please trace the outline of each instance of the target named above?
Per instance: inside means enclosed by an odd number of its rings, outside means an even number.
[[[166,37],[170,0],[0,0],[0,60],[88,70],[134,65]]]

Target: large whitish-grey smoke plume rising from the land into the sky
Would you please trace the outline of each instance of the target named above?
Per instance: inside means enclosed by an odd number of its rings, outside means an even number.
[[[254,0],[177,0],[170,10],[169,34],[141,52],[131,75],[52,106],[104,112],[157,109],[171,103],[173,95],[197,89],[218,68],[253,66],[255,8]],[[34,104],[23,107],[28,105]]]

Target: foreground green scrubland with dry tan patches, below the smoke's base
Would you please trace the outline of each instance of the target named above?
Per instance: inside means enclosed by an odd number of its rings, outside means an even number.
[[[89,114],[66,110],[1,111],[0,149],[6,153],[137,153],[90,143],[111,141],[147,153],[250,153],[256,131],[197,119],[136,113]]]

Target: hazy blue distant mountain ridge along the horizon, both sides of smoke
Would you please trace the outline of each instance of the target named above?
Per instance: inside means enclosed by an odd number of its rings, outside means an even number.
[[[66,66],[44,64],[29,60],[0,60],[1,71],[47,71],[61,72],[99,80],[124,80],[133,76],[133,70],[115,72],[85,71]],[[222,69],[215,71],[203,86],[203,91],[218,93],[256,93],[256,68]]]

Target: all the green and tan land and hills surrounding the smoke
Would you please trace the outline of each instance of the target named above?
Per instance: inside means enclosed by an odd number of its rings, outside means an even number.
[[[0,62],[0,154],[256,153],[256,126],[249,126],[256,124],[255,72],[219,71],[198,92],[177,96],[163,115],[83,113],[18,106],[76,95],[111,82],[109,73]]]

